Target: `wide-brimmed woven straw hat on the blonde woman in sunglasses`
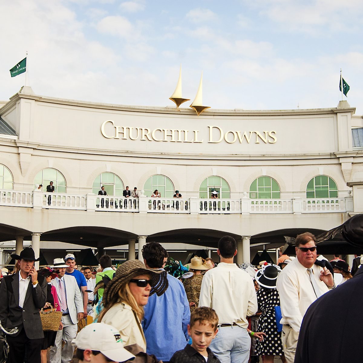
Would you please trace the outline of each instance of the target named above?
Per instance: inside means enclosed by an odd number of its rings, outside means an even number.
[[[139,260],[130,260],[118,266],[114,278],[107,284],[103,291],[103,304],[106,306],[115,294],[118,293],[121,285],[129,282],[134,276],[148,274],[151,279],[150,295],[162,295],[168,288],[167,272],[160,269],[147,269]]]

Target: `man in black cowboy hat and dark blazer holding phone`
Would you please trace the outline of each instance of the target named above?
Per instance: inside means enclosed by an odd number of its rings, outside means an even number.
[[[39,309],[46,302],[46,280],[34,268],[32,248],[25,248],[20,256],[20,271],[5,276],[0,285],[0,321],[5,329],[17,327],[17,334],[8,335],[8,363],[23,363],[26,351],[28,362],[40,363],[42,338],[44,338]]]

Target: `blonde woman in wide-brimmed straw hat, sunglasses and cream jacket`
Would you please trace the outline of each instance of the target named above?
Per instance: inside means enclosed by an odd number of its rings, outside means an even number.
[[[140,322],[150,295],[162,295],[167,287],[167,272],[147,269],[139,260],[126,261],[103,292],[98,322],[116,327],[124,346],[138,344],[146,352],[146,340]]]

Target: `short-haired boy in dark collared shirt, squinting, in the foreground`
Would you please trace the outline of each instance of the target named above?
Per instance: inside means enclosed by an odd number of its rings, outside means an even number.
[[[217,335],[218,316],[206,306],[197,307],[192,311],[188,333],[192,345],[187,344],[171,357],[170,363],[220,363],[220,360],[208,348]]]

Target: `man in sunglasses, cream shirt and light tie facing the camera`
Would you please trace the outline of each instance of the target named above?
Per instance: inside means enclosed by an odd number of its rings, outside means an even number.
[[[296,258],[277,278],[282,313],[282,345],[287,363],[293,363],[302,318],[308,307],[335,287],[331,272],[315,265],[317,247],[314,234],[305,232],[295,240]]]

